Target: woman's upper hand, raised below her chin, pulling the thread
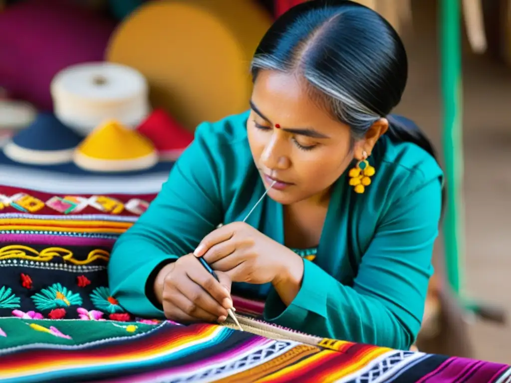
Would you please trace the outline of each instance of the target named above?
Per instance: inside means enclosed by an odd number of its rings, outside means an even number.
[[[303,260],[252,226],[235,222],[206,235],[194,252],[214,270],[225,272],[234,282],[274,285],[297,281],[304,273]]]

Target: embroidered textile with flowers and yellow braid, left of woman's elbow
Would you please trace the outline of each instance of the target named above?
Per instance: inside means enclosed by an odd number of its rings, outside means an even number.
[[[154,197],[0,187],[0,317],[134,320],[110,296],[106,267]]]

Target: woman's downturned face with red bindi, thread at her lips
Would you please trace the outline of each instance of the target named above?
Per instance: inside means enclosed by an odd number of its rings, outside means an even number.
[[[360,159],[365,149],[363,142],[351,148],[350,128],[310,99],[304,81],[261,70],[252,92],[250,150],[266,187],[278,181],[268,195],[282,204],[321,200],[354,155]]]

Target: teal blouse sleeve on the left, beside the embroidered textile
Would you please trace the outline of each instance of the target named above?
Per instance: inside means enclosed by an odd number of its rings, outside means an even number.
[[[219,154],[211,150],[216,137],[209,126],[197,128],[195,140],[174,165],[160,193],[112,250],[110,291],[130,313],[164,317],[161,307],[148,297],[154,271],[192,252],[221,223],[223,204],[215,165]]]

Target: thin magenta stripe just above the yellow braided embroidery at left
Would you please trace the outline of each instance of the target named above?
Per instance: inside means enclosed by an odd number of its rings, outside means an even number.
[[[51,246],[100,246],[110,247],[115,240],[107,238],[91,238],[71,235],[52,234],[0,234],[2,243],[39,244]]]

